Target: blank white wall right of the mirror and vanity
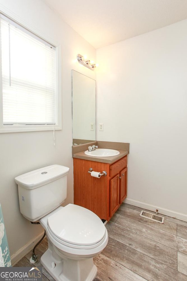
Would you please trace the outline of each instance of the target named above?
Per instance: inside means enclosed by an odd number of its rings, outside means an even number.
[[[187,20],[97,50],[97,140],[130,143],[126,201],[187,220]]]

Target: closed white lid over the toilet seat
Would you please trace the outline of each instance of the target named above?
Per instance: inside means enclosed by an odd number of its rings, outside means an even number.
[[[51,215],[48,227],[56,237],[74,245],[94,245],[105,235],[105,226],[96,214],[73,204]]]

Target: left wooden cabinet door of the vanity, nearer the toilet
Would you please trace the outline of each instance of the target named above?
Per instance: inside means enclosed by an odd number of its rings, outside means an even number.
[[[120,174],[117,174],[110,180],[110,217],[112,217],[119,207],[119,177]]]

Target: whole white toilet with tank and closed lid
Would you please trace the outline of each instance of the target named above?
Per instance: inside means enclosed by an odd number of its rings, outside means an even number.
[[[46,231],[48,249],[41,264],[57,281],[92,281],[93,257],[108,243],[101,219],[78,205],[60,206],[67,196],[69,168],[51,165],[15,177],[20,212]]]

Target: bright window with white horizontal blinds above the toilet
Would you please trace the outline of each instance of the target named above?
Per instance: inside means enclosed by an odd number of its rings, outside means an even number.
[[[59,47],[4,15],[0,20],[1,132],[60,129]]]

